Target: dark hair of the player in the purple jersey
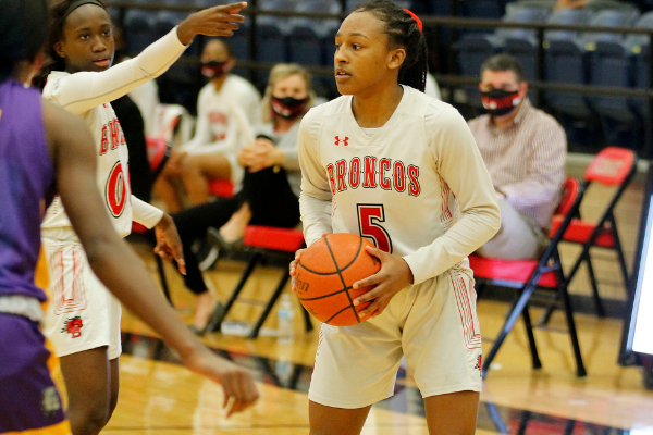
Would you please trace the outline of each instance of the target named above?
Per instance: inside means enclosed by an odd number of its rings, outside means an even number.
[[[45,0],[0,0],[0,83],[17,62],[33,61],[47,37]]]

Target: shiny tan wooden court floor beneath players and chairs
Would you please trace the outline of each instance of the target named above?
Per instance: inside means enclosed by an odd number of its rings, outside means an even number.
[[[642,181],[631,185],[617,208],[617,222],[629,264],[632,262],[642,200]],[[611,192],[590,188],[583,202],[583,219],[596,219]],[[143,247],[136,246],[156,278],[153,262]],[[577,249],[565,247],[563,259],[571,262]],[[244,263],[221,261],[207,272],[211,290],[225,300]],[[624,301],[625,289],[616,263],[609,256],[596,264],[601,294],[612,301]],[[192,295],[178,276],[168,269],[172,298],[180,315],[189,320]],[[266,297],[282,271],[263,266],[249,279],[245,293]],[[289,288],[286,288],[289,290]],[[584,272],[572,283],[576,295],[589,295]],[[491,338],[503,324],[507,302],[480,300],[478,312],[483,337]],[[239,307],[229,321],[247,322],[258,308]],[[296,314],[299,308],[296,307]],[[533,319],[539,315],[532,309]],[[238,335],[208,334],[205,343],[236,363],[251,369],[258,380],[261,399],[251,410],[226,420],[221,410],[220,388],[178,365],[174,355],[139,321],[128,313],[123,318],[125,352],[121,357],[121,394],[115,413],[103,431],[107,434],[280,434],[308,433],[307,389],[317,332],[305,333],[295,316],[296,338],[279,345],[273,336],[275,312],[257,339]],[[530,366],[523,325],[508,335],[484,382],[479,408],[478,434],[653,434],[653,391],[642,385],[638,368],[617,364],[623,321],[577,313],[577,327],[588,376],[577,378],[568,336],[552,331],[535,331],[543,368]],[[564,320],[554,314],[551,326],[563,328]],[[653,338],[652,338],[653,339]],[[489,350],[485,341],[483,349]],[[372,408],[364,428],[366,435],[427,434],[419,391],[410,373],[399,373],[396,394]]]

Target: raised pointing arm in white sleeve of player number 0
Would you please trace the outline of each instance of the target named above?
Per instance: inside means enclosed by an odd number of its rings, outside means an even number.
[[[196,12],[134,59],[100,73],[81,72],[62,78],[51,98],[77,114],[111,102],[168,71],[196,35],[233,35],[237,23],[245,20],[237,13],[246,5],[232,3]]]

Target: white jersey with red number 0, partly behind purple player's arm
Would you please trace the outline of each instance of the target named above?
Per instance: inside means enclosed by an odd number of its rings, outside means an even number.
[[[58,82],[66,76],[65,72],[52,72],[44,89],[49,98]],[[118,117],[110,103],[93,108],[81,115],[90,127],[97,156],[97,184],[113,226],[121,237],[132,229],[132,197],[128,182],[128,152]],[[44,229],[72,226],[63,210],[61,198],[57,196],[46,213]]]

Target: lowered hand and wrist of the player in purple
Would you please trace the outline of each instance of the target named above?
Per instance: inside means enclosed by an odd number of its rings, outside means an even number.
[[[258,388],[248,370],[218,357],[205,346],[199,346],[185,358],[184,364],[190,371],[201,374],[222,386],[224,390],[222,408],[226,409],[227,418],[235,412],[249,408],[259,398]]]

